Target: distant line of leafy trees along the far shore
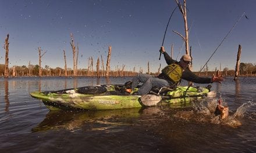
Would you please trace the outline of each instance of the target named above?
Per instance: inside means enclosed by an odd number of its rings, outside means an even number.
[[[5,72],[5,65],[0,64],[0,75],[3,77]],[[116,68],[115,71],[110,71],[109,76],[111,77],[125,77],[125,76],[135,76],[138,72],[133,71],[124,71],[119,70],[119,68]],[[220,71],[221,75],[223,76],[234,76],[235,71],[229,70],[228,68],[223,68],[222,71]],[[211,76],[212,74],[216,74],[216,71],[208,71],[205,69],[202,72],[195,72],[198,76],[205,77],[205,76]],[[99,77],[105,77],[105,71],[99,70],[98,71]],[[96,71],[91,71],[90,69],[78,69],[77,70],[77,76],[81,77],[97,77]],[[158,75],[158,73],[151,73],[151,75]],[[240,63],[240,76],[246,76],[246,77],[253,77],[256,76],[256,64],[252,63]],[[9,68],[9,76],[10,77],[34,77],[39,76],[39,65],[23,65],[23,66],[13,66]],[[48,65],[45,65],[44,68],[42,68],[42,75],[44,77],[64,77],[65,76],[65,70],[61,67],[56,68],[50,68]],[[72,68],[67,68],[67,76],[72,77],[73,76],[73,70]]]

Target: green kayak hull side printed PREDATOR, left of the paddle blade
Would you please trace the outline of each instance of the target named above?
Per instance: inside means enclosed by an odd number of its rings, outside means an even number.
[[[44,92],[32,92],[30,95],[42,102],[49,110],[66,110],[70,108],[85,110],[112,110],[120,108],[142,107],[140,96],[119,96],[90,94],[56,94]]]

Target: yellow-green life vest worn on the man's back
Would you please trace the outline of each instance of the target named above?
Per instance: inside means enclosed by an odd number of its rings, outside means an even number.
[[[182,79],[182,67],[179,64],[167,65],[162,72],[174,83],[179,83]]]

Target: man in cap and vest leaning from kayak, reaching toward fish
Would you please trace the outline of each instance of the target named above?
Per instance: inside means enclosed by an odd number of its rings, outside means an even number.
[[[188,54],[183,55],[180,61],[176,61],[165,52],[163,46],[159,52],[163,53],[165,61],[168,64],[163,68],[162,73],[157,77],[148,74],[137,74],[137,76],[132,79],[131,89],[126,89],[126,92],[133,93],[134,88],[136,88],[139,83],[143,83],[143,85],[138,89],[137,94],[143,95],[150,92],[152,87],[162,88],[167,86],[169,88],[175,88],[182,79],[194,83],[221,83],[221,81],[224,81],[224,78],[221,76],[215,77],[215,75],[213,75],[212,78],[204,78],[195,75],[188,68],[191,63],[191,57]]]

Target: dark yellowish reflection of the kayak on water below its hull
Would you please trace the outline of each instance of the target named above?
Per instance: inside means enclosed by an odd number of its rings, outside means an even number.
[[[140,116],[141,108],[120,110],[98,110],[98,111],[49,111],[44,121],[39,123],[32,132],[44,130],[76,130],[83,128],[88,123],[98,124],[97,128],[87,127],[88,130],[107,130],[109,128],[123,125],[118,123],[118,118],[136,118]]]

